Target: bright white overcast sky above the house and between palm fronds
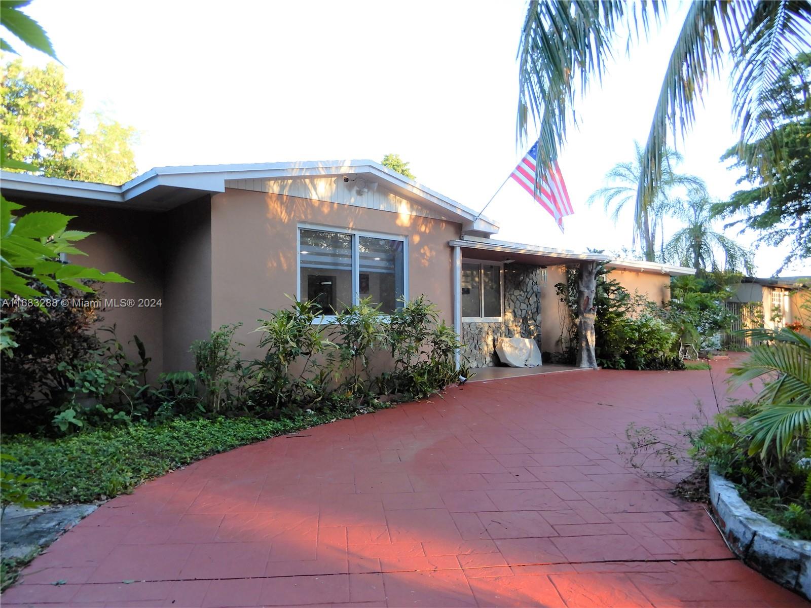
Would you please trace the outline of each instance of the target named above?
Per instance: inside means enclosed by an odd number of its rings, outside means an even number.
[[[395,152],[418,182],[477,212],[492,199],[485,215],[501,225],[495,238],[616,251],[632,246],[631,210],[615,225],[586,199],[612,165],[633,158],[635,139],[646,140],[686,9],[673,2],[630,55],[623,41],[602,85],[578,103],[560,157],[575,210],[563,234],[517,183],[499,190],[529,148],[515,128],[522,0],[34,0],[25,10],[49,33],[85,111],[139,129],[139,172]],[[36,51],[23,58],[45,63]],[[736,141],[726,75],[708,91],[693,131],[673,143],[679,169],[725,199],[742,187],[719,161]],[[755,236],[727,235],[746,246]],[[757,274],[770,276],[785,253],[758,247]],[[811,260],[782,274],[811,274]]]

